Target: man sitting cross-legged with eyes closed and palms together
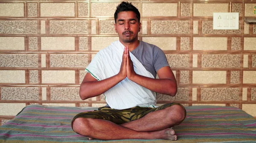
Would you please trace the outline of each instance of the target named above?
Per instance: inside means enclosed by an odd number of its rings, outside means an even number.
[[[119,41],[96,54],[79,92],[82,100],[104,93],[108,105],[76,115],[73,130],[99,140],[177,140],[171,127],[184,120],[186,110],[177,103],[155,106],[156,93],[177,93],[165,54],[138,40],[140,12],[131,3],[120,3],[114,18]]]

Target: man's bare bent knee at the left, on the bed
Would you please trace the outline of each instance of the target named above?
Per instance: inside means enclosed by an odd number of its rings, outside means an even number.
[[[89,122],[87,121],[87,118],[76,118],[72,123],[72,129],[80,134],[84,135],[84,131],[89,130]],[[85,135],[86,136],[86,135]]]

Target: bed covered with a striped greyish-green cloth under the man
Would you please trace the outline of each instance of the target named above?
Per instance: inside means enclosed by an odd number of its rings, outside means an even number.
[[[49,107],[29,105],[0,126],[0,143],[256,143],[256,119],[236,107],[186,107],[186,119],[173,129],[177,141],[88,140],[76,134],[70,121],[79,112],[95,107]]]

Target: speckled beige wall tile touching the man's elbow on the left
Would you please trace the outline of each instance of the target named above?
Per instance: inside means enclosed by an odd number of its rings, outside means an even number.
[[[51,87],[51,100],[73,101],[79,100],[79,87]]]

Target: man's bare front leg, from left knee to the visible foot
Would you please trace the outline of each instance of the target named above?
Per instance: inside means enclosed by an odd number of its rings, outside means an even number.
[[[80,135],[99,140],[121,139],[165,139],[177,140],[172,129],[163,129],[155,132],[138,132],[119,126],[111,121],[102,119],[77,118],[73,122],[73,129]]]

